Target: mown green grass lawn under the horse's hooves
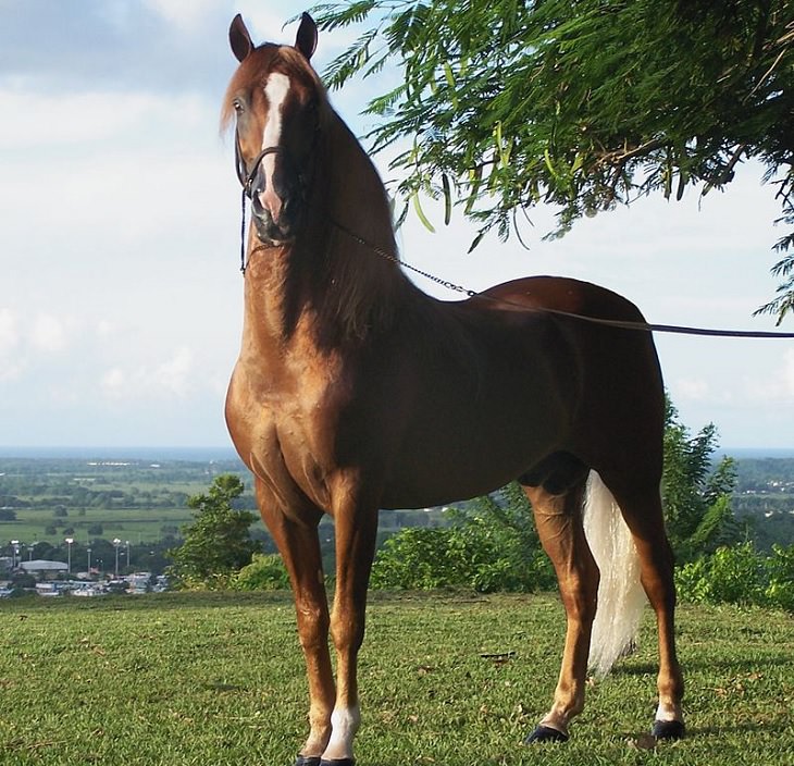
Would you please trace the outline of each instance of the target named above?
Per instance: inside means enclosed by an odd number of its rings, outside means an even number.
[[[655,749],[640,739],[655,708],[649,616],[640,652],[588,687],[571,741],[531,749],[561,652],[555,597],[376,594],[368,620],[361,766],[794,763],[790,615],[682,608],[690,736]],[[306,733],[286,594],[4,602],[0,641],[9,766],[288,766]]]

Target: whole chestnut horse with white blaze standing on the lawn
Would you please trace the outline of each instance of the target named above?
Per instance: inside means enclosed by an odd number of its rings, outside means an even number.
[[[553,704],[526,741],[567,740],[583,709],[607,570],[633,571],[655,610],[653,733],[682,737],[661,372],[650,333],[605,326],[642,323],[638,309],[553,276],[456,301],[421,292],[395,256],[384,185],[311,65],[315,23],[303,14],[294,45],[256,46],[239,15],[228,35],[238,66],[221,122],[235,124],[251,220],[225,418],[294,593],[310,700],[296,766],[353,763],[379,509],[448,504],[512,480],[531,501],[567,617]],[[622,517],[634,569],[596,564],[583,509],[597,497]],[[318,539],[326,514],[331,611]]]

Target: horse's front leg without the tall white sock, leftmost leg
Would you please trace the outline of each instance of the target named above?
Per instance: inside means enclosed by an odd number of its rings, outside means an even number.
[[[290,520],[260,482],[257,483],[257,499],[262,519],[289,572],[298,635],[306,658],[310,730],[296,766],[319,766],[320,755],[331,739],[331,713],[336,691],[328,651],[328,604],[317,523],[314,520],[307,524]],[[318,512],[317,521],[319,519]]]

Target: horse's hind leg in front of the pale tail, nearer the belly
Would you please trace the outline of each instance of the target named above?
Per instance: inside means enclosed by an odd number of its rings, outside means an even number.
[[[537,533],[557,572],[568,627],[554,704],[526,742],[568,739],[568,725],[584,707],[591,630],[598,596],[598,567],[584,536],[582,499],[586,468],[573,483],[524,486],[535,515]]]

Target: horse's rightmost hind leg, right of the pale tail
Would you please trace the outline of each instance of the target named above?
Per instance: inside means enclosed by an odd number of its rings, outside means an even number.
[[[629,480],[626,481],[626,477]],[[654,734],[659,739],[684,736],[681,700],[684,681],[675,655],[675,583],[673,556],[665,531],[661,496],[655,482],[638,482],[638,472],[601,474],[620,506],[640,556],[641,580],[659,633],[659,706]]]

